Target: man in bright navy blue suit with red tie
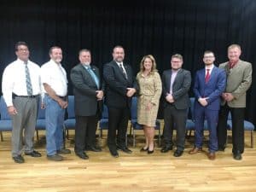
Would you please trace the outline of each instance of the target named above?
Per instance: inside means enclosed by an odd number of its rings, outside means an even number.
[[[215,57],[212,51],[205,51],[203,61],[205,68],[195,75],[195,148],[189,154],[201,152],[203,143],[204,121],[207,119],[209,130],[209,160],[215,160],[218,150],[217,124],[220,96],[226,85],[226,75],[223,69],[215,67]]]

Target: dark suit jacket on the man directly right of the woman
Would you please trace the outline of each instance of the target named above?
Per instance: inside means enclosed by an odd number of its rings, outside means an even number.
[[[172,69],[164,71],[162,74],[162,84],[163,84],[163,99],[164,103],[163,106],[169,104],[166,101],[166,95],[170,93],[170,86],[171,86],[171,77],[172,77]],[[174,79],[172,84],[172,96],[174,99],[174,106],[177,109],[185,109],[189,108],[190,101],[189,101],[189,88],[191,85],[191,74],[189,71],[184,70],[183,68],[179,69],[177,72],[177,76]]]

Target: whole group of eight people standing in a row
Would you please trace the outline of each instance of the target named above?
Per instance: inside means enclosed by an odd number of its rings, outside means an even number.
[[[22,154],[23,130],[25,155],[40,157],[33,148],[38,101],[45,108],[46,152],[49,160],[63,160],[61,154],[70,154],[64,148],[63,122],[67,108],[67,73],[61,67],[62,50],[54,46],[49,49],[49,62],[41,68],[29,60],[29,49],[25,42],[15,45],[17,60],[3,72],[3,98],[12,116],[12,157],[16,163],[25,160]],[[215,159],[217,150],[224,151],[227,137],[228,113],[232,117],[232,143],[235,160],[241,160],[244,150],[243,120],[246,108],[246,92],[252,83],[252,65],[240,60],[241,47],[231,44],[228,48],[230,61],[214,65],[212,51],[205,51],[205,67],[196,72],[195,84],[195,147],[189,154],[202,151],[204,121],[209,129],[209,160]],[[113,157],[118,150],[131,154],[125,135],[130,116],[131,98],[137,96],[137,122],[143,125],[145,144],[141,152],[154,153],[154,126],[162,96],[165,127],[165,145],[162,153],[172,150],[173,130],[177,130],[175,157],[183,154],[185,127],[190,107],[189,89],[191,74],[184,70],[183,56],[172,55],[171,69],[157,72],[153,55],[145,55],[140,63],[136,79],[131,66],[124,63],[125,49],[113,48],[113,61],[103,66],[102,78],[99,69],[91,65],[89,49],[79,51],[80,63],[70,73],[73,84],[75,111],[74,152],[86,160],[87,150],[100,152],[96,145],[96,127],[102,113],[102,102],[108,107],[108,148]]]

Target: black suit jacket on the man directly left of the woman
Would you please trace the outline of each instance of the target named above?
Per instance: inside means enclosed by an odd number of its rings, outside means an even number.
[[[131,107],[131,98],[126,96],[126,92],[128,87],[135,86],[135,80],[131,66],[125,63],[123,65],[128,79],[125,79],[124,73],[115,61],[110,61],[103,67],[103,79],[106,84],[105,102],[108,107]]]

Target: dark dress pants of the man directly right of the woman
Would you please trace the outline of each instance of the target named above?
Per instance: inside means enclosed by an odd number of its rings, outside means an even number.
[[[166,146],[173,146],[172,134],[173,130],[176,129],[177,150],[184,150],[187,114],[187,109],[177,109],[172,104],[168,104],[164,109],[165,128],[163,135]]]

